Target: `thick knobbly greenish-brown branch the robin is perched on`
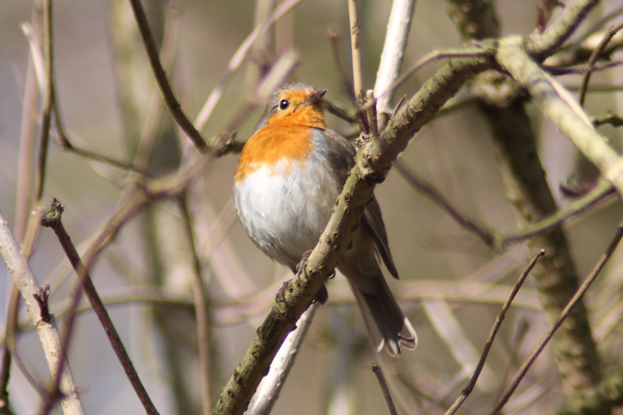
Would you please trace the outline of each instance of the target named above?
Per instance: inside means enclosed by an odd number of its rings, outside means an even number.
[[[375,140],[359,148],[356,165],[318,245],[301,272],[288,285],[283,302],[273,305],[266,320],[258,328],[249,350],[222,390],[212,410],[213,414],[238,414],[244,411],[283,339],[310,305],[348,247],[374,186],[383,181],[392,161],[404,150],[411,137],[473,73],[487,67],[488,62],[483,58],[450,60],[390,120],[379,140],[386,145],[381,146]]]

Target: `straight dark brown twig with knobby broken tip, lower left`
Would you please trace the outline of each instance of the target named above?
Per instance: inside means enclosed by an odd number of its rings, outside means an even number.
[[[136,370],[130,361],[130,356],[121,342],[119,333],[113,325],[113,322],[110,319],[110,316],[108,315],[97,290],[95,289],[95,285],[93,285],[90,275],[88,275],[87,268],[82,263],[78,251],[75,249],[74,244],[67,234],[67,231],[65,231],[65,227],[61,222],[62,211],[63,207],[56,199],[54,199],[54,202],[50,207],[50,211],[44,216],[42,225],[52,228],[59,239],[60,246],[62,246],[65,251],[65,255],[67,255],[67,259],[69,259],[69,262],[72,264],[72,267],[74,267],[76,274],[78,274],[88,301],[91,303],[98,320],[102,323],[102,327],[104,328],[105,333],[107,333],[110,345],[112,346],[113,351],[115,351],[115,355],[117,355],[117,358],[123,367],[123,371],[125,371],[125,374],[134,388],[138,398],[143,404],[143,408],[145,408],[145,411],[148,414],[158,414],[158,411],[156,411],[155,406],[151,402],[145,387],[138,378],[138,373],[136,373]]]

